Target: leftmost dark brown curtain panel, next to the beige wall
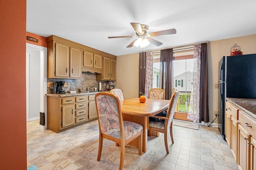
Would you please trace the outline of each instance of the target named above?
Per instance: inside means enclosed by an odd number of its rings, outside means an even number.
[[[139,93],[145,94],[145,81],[146,81],[146,52],[140,53],[139,59]],[[140,97],[141,95],[138,94]]]

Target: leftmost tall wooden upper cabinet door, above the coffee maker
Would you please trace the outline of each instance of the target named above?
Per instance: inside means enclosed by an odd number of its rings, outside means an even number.
[[[69,77],[69,45],[55,43],[55,76]]]

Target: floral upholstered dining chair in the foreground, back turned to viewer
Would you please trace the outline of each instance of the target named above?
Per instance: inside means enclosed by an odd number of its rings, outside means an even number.
[[[137,123],[123,121],[120,100],[116,95],[100,92],[95,95],[95,102],[100,131],[97,161],[100,161],[103,138],[111,140],[121,147],[119,170],[122,170],[126,144],[138,138],[139,154],[142,154],[143,127]]]

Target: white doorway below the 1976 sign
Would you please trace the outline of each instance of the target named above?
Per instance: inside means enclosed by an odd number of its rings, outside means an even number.
[[[26,104],[27,122],[40,119],[45,113],[47,93],[47,48],[26,43]]]

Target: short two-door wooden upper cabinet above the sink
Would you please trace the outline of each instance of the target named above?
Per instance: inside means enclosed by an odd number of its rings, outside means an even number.
[[[83,67],[102,69],[102,55],[84,50]]]

